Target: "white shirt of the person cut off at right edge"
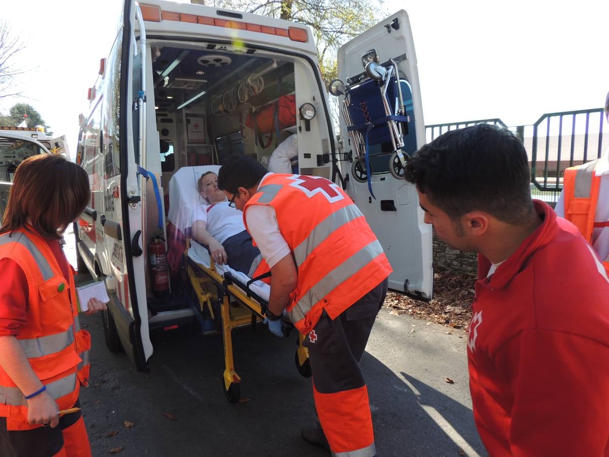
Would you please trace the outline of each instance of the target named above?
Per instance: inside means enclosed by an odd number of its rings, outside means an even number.
[[[599,200],[596,204],[596,213],[594,214],[594,222],[609,221],[609,149],[606,149],[600,162],[594,168],[597,176],[600,176]],[[565,191],[563,190],[556,202],[557,216],[565,217]],[[592,247],[599,255],[600,260],[609,260],[609,227],[594,228],[592,232]]]

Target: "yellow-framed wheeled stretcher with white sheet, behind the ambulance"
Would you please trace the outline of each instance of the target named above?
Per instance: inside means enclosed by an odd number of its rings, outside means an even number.
[[[197,180],[206,171],[217,173],[218,169],[217,165],[184,167],[180,169],[179,175],[177,173],[172,177],[169,182],[172,200],[169,221],[175,230],[188,233],[195,205],[203,204],[197,192]],[[222,386],[227,399],[236,403],[241,397],[241,377],[234,369],[231,332],[237,327],[255,328],[256,324],[264,320],[270,286],[261,280],[252,280],[227,265],[214,263],[206,247],[188,236],[185,238],[185,249],[181,250],[181,257],[187,276],[186,282],[191,286],[189,301],[193,302],[199,317],[218,324],[217,327],[222,331],[225,363]],[[290,327],[293,327],[291,323]],[[295,364],[303,377],[311,377],[309,353],[302,345],[303,340],[304,336],[299,333]]]

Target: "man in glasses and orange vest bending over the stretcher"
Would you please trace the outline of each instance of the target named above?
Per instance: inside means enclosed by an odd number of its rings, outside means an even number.
[[[327,179],[267,173],[238,156],[220,168],[219,186],[244,212],[270,266],[269,329],[283,336],[280,317],[287,310],[308,335],[322,428],[303,428],[303,438],[329,444],[334,455],[375,456],[359,361],[392,271],[381,244],[353,201]]]

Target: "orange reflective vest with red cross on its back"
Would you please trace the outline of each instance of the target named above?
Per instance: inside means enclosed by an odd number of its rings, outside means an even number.
[[[392,272],[364,215],[325,178],[269,175],[245,205],[245,228],[252,205],[275,208],[281,235],[294,254],[298,282],[287,313],[303,335],[323,310],[336,319]]]

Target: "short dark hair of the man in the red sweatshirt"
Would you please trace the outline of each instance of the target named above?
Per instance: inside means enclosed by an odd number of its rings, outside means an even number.
[[[479,210],[518,225],[533,207],[523,143],[489,124],[451,130],[424,145],[407,162],[404,179],[451,219]]]

